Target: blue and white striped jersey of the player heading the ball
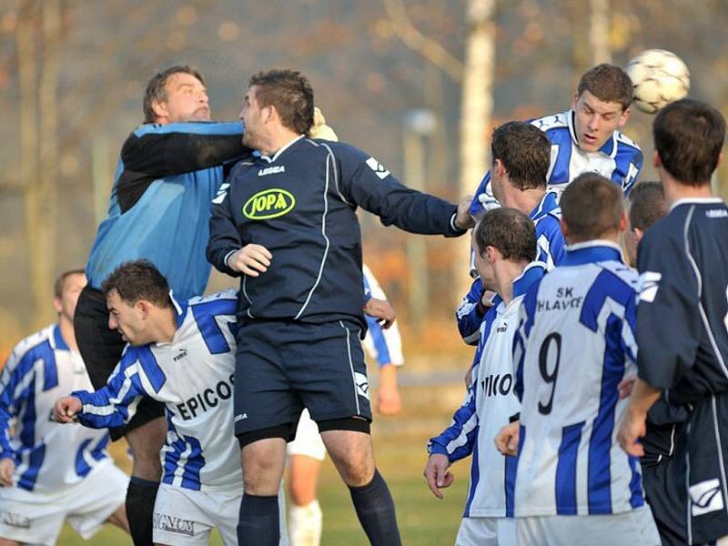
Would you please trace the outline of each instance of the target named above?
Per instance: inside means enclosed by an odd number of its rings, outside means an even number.
[[[622,187],[625,196],[629,194],[640,175],[643,160],[642,150],[629,137],[614,131],[612,138],[599,150],[584,152],[576,138],[573,110],[539,117],[530,123],[539,127],[551,140],[551,164],[546,175],[549,187],[563,190],[581,173],[596,172]],[[493,197],[490,171],[480,180],[470,205],[473,216],[483,212],[481,196]]]

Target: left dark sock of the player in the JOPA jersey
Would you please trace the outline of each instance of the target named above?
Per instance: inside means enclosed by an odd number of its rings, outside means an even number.
[[[278,546],[278,495],[243,494],[238,520],[238,546]]]

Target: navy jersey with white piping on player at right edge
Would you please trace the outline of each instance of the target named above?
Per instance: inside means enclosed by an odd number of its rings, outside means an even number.
[[[675,404],[728,391],[728,209],[678,201],[638,248],[640,377]]]

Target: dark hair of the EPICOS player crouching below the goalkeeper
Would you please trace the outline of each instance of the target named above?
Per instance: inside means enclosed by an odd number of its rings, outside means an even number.
[[[136,259],[121,264],[106,278],[101,290],[105,296],[116,290],[119,297],[130,304],[146,299],[159,308],[172,307],[167,279],[147,259]]]

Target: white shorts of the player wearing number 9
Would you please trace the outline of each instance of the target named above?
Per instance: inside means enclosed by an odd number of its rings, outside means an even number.
[[[516,518],[519,544],[660,546],[660,534],[646,504],[620,514]]]

